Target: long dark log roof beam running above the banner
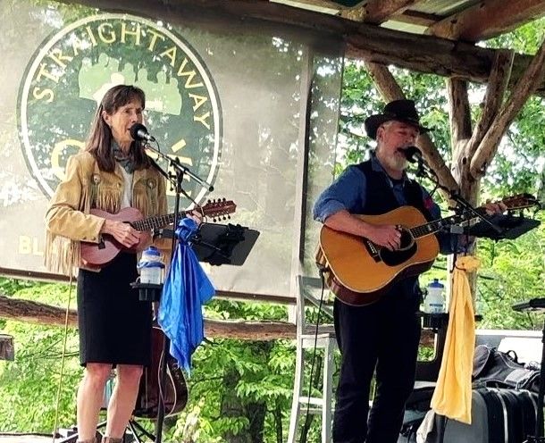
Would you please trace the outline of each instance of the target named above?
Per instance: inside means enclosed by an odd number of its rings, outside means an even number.
[[[73,4],[74,1],[62,0]],[[108,11],[110,0],[77,0]],[[521,2],[527,0],[520,0]],[[545,2],[545,0],[543,0]],[[542,2],[541,2],[542,3]],[[123,11],[153,17],[160,14],[157,5],[148,0],[132,0],[123,4]],[[444,38],[421,36],[385,29],[368,23],[358,23],[342,17],[305,11],[285,4],[250,0],[177,0],[168,2],[161,10],[168,13],[173,25],[183,24],[206,26],[225,23],[226,26],[244,24],[249,29],[264,29],[269,22],[285,25],[277,29],[283,35],[286,29],[316,31],[316,45],[321,39],[343,38],[347,44],[346,55],[373,63],[395,64],[411,71],[433,73],[445,77],[458,77],[477,83],[486,83],[496,51]],[[516,55],[511,75],[512,85],[523,74],[532,61],[530,55]],[[538,94],[545,94],[545,81],[540,78]]]

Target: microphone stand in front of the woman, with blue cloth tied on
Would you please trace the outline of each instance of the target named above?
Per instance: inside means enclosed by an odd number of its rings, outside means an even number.
[[[158,164],[155,163],[155,168],[157,171],[159,171],[167,180],[171,182],[171,184],[175,188],[175,197],[174,197],[174,221],[173,221],[173,231],[176,231],[176,228],[178,227],[178,221],[180,218],[180,195],[184,194],[187,196],[187,193],[182,189],[181,184],[183,181],[184,173],[188,174],[189,177],[196,180],[197,183],[199,183],[201,186],[207,188],[209,191],[212,191],[214,187],[207,183],[205,180],[202,180],[200,177],[197,176],[197,174],[189,171],[189,169],[185,166],[183,166],[180,163],[180,159],[178,157],[170,157],[168,155],[163,154],[158,148],[155,148],[155,146],[150,146],[149,144],[145,145],[147,148],[149,148],[151,151],[153,151],[155,154],[159,155],[160,157],[164,158],[168,163],[171,164],[172,169],[175,171],[174,175],[171,175],[164,171]],[[171,244],[171,266],[172,266],[172,259],[174,258],[174,250],[176,247],[176,235],[172,235],[172,244]],[[161,443],[163,439],[163,423],[164,423],[164,398],[163,398],[163,392],[164,392],[164,380],[166,376],[166,355],[169,352],[170,348],[170,340],[168,337],[164,337],[164,346],[163,346],[163,354],[161,358],[161,364],[159,366],[159,401],[157,405],[157,422],[155,422],[155,443]]]

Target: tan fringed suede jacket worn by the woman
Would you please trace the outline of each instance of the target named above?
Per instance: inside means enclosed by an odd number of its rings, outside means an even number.
[[[86,268],[80,263],[80,241],[99,243],[105,222],[89,212],[97,208],[118,213],[124,186],[119,164],[105,172],[88,152],[71,156],[46,212],[47,269],[68,275],[74,267]],[[134,171],[132,206],[144,217],[167,213],[164,178],[155,168]]]

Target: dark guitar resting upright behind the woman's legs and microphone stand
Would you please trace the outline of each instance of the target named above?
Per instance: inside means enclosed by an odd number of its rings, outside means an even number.
[[[152,330],[151,365],[144,368],[134,415],[140,418],[155,419],[161,399],[159,375],[164,350],[164,332],[158,326]],[[188,385],[176,359],[167,352],[166,373],[164,376],[164,416],[180,414],[188,404]]]

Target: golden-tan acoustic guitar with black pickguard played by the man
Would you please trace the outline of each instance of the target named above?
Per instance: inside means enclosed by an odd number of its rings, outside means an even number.
[[[508,197],[501,203],[509,210],[539,205],[536,198],[528,194]],[[479,211],[484,212],[484,209]],[[316,264],[324,271],[329,288],[340,301],[361,306],[376,302],[398,280],[429,270],[439,255],[439,242],[433,234],[476,216],[466,210],[440,220],[426,221],[415,207],[401,206],[381,215],[356,217],[376,225],[398,225],[401,231],[399,249],[390,251],[367,238],[323,225]]]

